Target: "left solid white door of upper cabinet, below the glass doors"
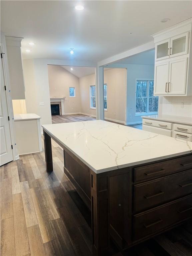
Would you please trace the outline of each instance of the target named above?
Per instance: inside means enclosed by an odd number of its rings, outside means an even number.
[[[154,95],[168,94],[169,62],[155,63]]]

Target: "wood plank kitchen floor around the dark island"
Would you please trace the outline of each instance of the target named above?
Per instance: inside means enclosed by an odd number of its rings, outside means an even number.
[[[90,211],[64,175],[63,150],[54,141],[52,153],[52,173],[44,151],[0,168],[2,256],[92,255]],[[122,253],[113,245],[108,255],[192,256],[192,223]]]

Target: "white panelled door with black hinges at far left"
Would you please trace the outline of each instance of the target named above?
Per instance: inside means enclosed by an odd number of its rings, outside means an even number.
[[[3,56],[3,54],[2,54]],[[1,103],[0,103],[0,165],[13,160],[11,146],[11,133],[8,119],[7,97],[5,91],[5,78],[3,72],[3,61],[1,59]]]

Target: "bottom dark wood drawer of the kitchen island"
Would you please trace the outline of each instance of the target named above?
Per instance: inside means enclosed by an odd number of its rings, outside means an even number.
[[[192,196],[133,216],[133,240],[157,233],[192,217]]]

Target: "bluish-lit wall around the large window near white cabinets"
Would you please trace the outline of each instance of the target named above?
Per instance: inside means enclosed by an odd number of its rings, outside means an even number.
[[[154,65],[127,65],[127,124],[142,122],[140,116],[135,116],[137,79],[154,79]]]

